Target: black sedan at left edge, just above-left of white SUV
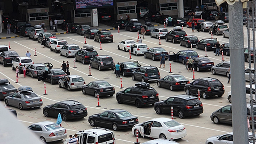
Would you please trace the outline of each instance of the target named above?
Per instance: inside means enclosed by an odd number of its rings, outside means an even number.
[[[16,51],[4,51],[0,54],[0,63],[2,63],[3,66],[7,66],[8,64],[12,64],[12,60],[16,57],[19,57]]]

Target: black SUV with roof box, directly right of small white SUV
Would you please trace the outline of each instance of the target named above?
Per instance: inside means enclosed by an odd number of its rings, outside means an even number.
[[[81,61],[82,64],[89,64],[90,60],[94,58],[95,56],[98,56],[98,52],[96,50],[84,48],[78,50],[75,55],[74,59],[75,61]]]

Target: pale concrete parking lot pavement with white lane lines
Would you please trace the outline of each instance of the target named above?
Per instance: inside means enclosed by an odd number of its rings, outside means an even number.
[[[163,25],[156,26],[156,27],[163,27]],[[166,27],[169,31],[172,30],[173,27]],[[209,32],[191,32],[191,28],[184,27],[184,31],[186,31],[187,35],[195,35],[199,39],[204,38],[210,38],[211,35]],[[117,45],[121,40],[125,39],[133,39],[136,41],[137,39],[137,32],[129,32],[120,30],[120,34],[118,34],[118,30],[111,30],[111,33],[114,37],[113,43],[102,43],[102,49],[100,49],[99,42],[94,42],[93,39],[86,39],[86,42],[90,45],[94,46],[94,49],[99,53],[99,55],[107,54],[111,56],[115,64],[118,62],[124,62],[124,61],[138,61],[142,66],[146,65],[152,65],[159,67],[160,61],[152,61],[151,59],[147,58],[145,59],[143,55],[141,56],[135,56],[132,54],[132,60],[129,60],[129,52],[124,52],[123,50],[118,50]],[[247,45],[247,30],[244,26],[244,34],[245,39],[244,43]],[[65,39],[69,44],[77,44],[80,48],[84,45],[84,37],[77,35],[75,33],[73,34],[63,34],[63,35],[56,35],[59,39]],[[140,35],[142,36],[142,35]],[[222,35],[213,35],[213,38],[217,38],[219,43],[229,43],[228,38],[223,38]],[[43,48],[42,45],[40,45],[37,41],[33,41],[29,38],[23,38],[22,36],[19,38],[13,38],[13,39],[3,39],[1,40],[0,44],[6,44],[8,45],[8,40],[10,40],[10,46],[11,50],[16,51],[20,56],[25,56],[26,51],[29,51],[32,55],[32,59],[34,63],[44,63],[44,62],[50,62],[54,68],[59,68],[62,64],[62,61],[69,61],[70,68],[69,71],[71,75],[76,74],[82,76],[86,84],[88,84],[91,81],[94,80],[106,80],[109,82],[112,86],[115,87],[115,91],[121,91],[124,89],[120,89],[120,78],[116,78],[116,75],[112,70],[103,70],[99,71],[98,69],[91,69],[92,76],[88,76],[89,74],[89,65],[85,64],[83,65],[81,62],[76,62],[76,69],[74,69],[74,62],[73,58],[66,58],[65,56],[60,56],[60,54],[51,52],[49,48]],[[161,39],[161,45],[159,45],[159,40],[156,38],[150,38],[150,36],[145,36],[145,39],[142,39],[142,43],[145,43],[148,45],[149,48],[152,47],[162,47],[166,49],[166,51],[173,51],[178,52],[179,50],[185,50],[190,49],[186,47],[181,47],[179,43],[173,44],[172,42],[166,42],[165,39]],[[37,50],[37,56],[34,56],[34,49]],[[193,48],[194,51],[196,51],[200,57],[205,56],[205,51],[202,51],[200,49]],[[215,56],[215,53],[212,51],[207,52],[208,58],[214,62],[215,65],[217,65],[222,60],[222,56]],[[229,61],[229,56],[224,55],[224,60]],[[248,62],[245,62],[246,67],[248,66]],[[18,120],[21,121],[24,125],[29,126],[31,123],[40,122],[40,121],[52,121],[56,122],[56,119],[54,118],[46,118],[43,115],[42,109],[46,105],[54,104],[55,102],[62,101],[62,100],[77,100],[85,105],[85,107],[88,110],[88,116],[92,114],[101,113],[104,110],[107,109],[114,109],[114,108],[120,108],[125,109],[132,113],[133,115],[137,116],[139,119],[139,122],[148,121],[153,118],[160,118],[160,117],[167,117],[171,118],[171,115],[168,114],[162,114],[158,115],[155,113],[155,110],[153,109],[152,105],[145,106],[143,108],[137,108],[134,104],[118,104],[116,101],[115,95],[112,97],[106,96],[106,97],[100,97],[100,105],[101,107],[96,107],[97,105],[97,99],[95,99],[92,95],[83,95],[81,90],[77,91],[68,91],[64,88],[59,88],[57,84],[51,85],[50,83],[46,82],[46,88],[48,95],[43,95],[44,93],[44,82],[39,81],[34,78],[32,79],[30,76],[27,76],[24,78],[22,75],[20,75],[20,78],[18,79],[19,83],[16,82],[16,74],[15,71],[11,70],[11,67],[3,67],[3,65],[0,65],[0,78],[7,78],[9,81],[13,84],[14,87],[18,88],[20,86],[31,86],[33,88],[33,91],[38,94],[39,97],[42,97],[43,99],[43,106],[39,109],[27,109],[27,110],[20,110],[18,108],[10,107],[12,109],[17,110],[18,113]],[[165,77],[166,75],[170,74],[169,72],[169,61],[166,60],[166,67],[165,68],[158,68],[161,74],[161,78]],[[180,62],[173,62],[171,61],[171,70],[174,74],[181,74],[185,78],[187,78],[190,82],[192,82],[192,72],[188,72],[185,68],[185,65],[183,65]],[[219,79],[223,85],[225,86],[225,93],[222,97],[214,96],[210,97],[209,99],[202,99],[201,101],[204,106],[204,113],[200,114],[199,116],[192,116],[192,117],[186,117],[185,119],[178,118],[177,115],[174,115],[174,119],[185,126],[187,130],[187,136],[182,139],[175,140],[180,144],[204,144],[206,139],[210,136],[214,135],[222,135],[227,132],[232,131],[231,125],[225,125],[225,124],[219,124],[216,125],[210,120],[210,115],[215,110],[221,108],[222,106],[230,104],[227,100],[227,93],[230,91],[230,84],[227,83],[228,78],[223,75],[213,75],[211,71],[201,71],[196,72],[195,71],[195,78],[202,78],[202,77],[213,77]],[[123,80],[123,87],[127,88],[129,86],[134,86],[136,82],[139,81],[133,81],[131,77],[122,77]],[[170,96],[179,95],[179,94],[185,94],[184,90],[180,91],[170,91],[168,89],[159,88],[157,87],[156,82],[149,82],[150,86],[154,87],[155,90],[159,93],[159,99],[165,100]],[[1,101],[1,103],[4,105],[4,101]],[[90,126],[88,122],[88,116],[83,119],[77,119],[77,120],[71,120],[68,122],[62,122],[62,126],[67,129],[68,135],[74,134],[77,131],[85,130],[93,128]],[[117,144],[129,144],[134,143],[136,141],[136,137],[133,135],[133,132],[131,129],[125,129],[120,131],[115,131],[116,136],[116,143]],[[139,138],[139,141],[141,143],[151,140],[150,138]],[[52,144],[60,144],[63,143],[63,141],[56,141],[52,142]]]

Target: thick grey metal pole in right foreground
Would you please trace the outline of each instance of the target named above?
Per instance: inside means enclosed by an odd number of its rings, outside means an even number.
[[[229,5],[229,17],[233,141],[248,144],[242,2]]]

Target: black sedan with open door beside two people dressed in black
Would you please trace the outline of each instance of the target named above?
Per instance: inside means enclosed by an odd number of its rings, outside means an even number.
[[[65,77],[67,74],[62,69],[51,69],[48,71],[47,76],[44,77],[44,72],[37,73],[37,80],[43,80],[46,82],[50,82],[51,84],[55,84],[59,82],[60,79]]]

